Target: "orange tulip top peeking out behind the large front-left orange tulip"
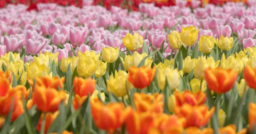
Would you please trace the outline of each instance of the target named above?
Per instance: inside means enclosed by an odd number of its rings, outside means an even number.
[[[35,78],[36,85],[38,86],[44,86],[46,88],[54,88],[63,89],[63,84],[65,82],[65,78],[61,77],[58,78],[58,76],[50,77],[50,76],[41,76]],[[29,85],[32,87],[34,84],[34,80],[28,79]]]

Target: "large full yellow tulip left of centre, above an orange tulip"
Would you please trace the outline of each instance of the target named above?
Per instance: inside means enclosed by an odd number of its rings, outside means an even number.
[[[99,54],[85,51],[79,55],[76,70],[79,76],[91,77],[99,66]]]

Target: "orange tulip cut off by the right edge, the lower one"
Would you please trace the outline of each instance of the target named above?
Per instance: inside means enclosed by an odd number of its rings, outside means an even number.
[[[248,112],[248,122],[249,122],[249,129],[250,131],[253,130],[253,127],[256,127],[256,104],[250,103],[249,104],[249,112]]]

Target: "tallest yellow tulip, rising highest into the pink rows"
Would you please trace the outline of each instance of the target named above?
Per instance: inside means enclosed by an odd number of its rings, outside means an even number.
[[[180,32],[180,40],[184,45],[194,45],[198,38],[198,29],[194,26],[182,28]]]

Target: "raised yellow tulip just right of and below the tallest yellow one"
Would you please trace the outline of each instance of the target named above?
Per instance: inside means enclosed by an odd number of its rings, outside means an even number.
[[[215,43],[216,40],[213,36],[201,36],[199,39],[199,50],[203,53],[211,53]]]

